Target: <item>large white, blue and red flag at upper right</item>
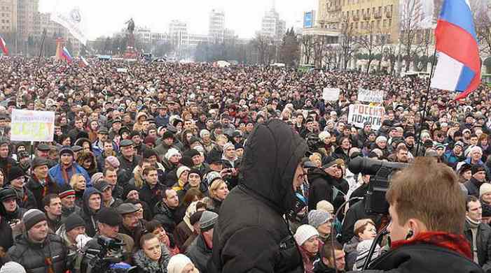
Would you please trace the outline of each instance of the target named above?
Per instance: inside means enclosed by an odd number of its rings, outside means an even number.
[[[431,88],[458,91],[465,98],[480,84],[476,27],[467,0],[445,0],[435,30],[438,64]]]

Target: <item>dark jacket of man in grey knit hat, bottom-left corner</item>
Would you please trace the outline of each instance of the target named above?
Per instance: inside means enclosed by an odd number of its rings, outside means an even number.
[[[55,273],[64,273],[67,268],[68,249],[62,237],[48,233],[46,240],[39,244],[27,239],[27,235],[19,235],[14,246],[8,250],[8,256],[20,263],[27,272],[46,273],[46,258],[51,258]]]

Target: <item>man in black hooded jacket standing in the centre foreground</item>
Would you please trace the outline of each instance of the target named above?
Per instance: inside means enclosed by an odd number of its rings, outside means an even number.
[[[258,124],[247,138],[243,179],[220,209],[208,272],[304,272],[283,215],[305,173],[305,140],[283,121]]]

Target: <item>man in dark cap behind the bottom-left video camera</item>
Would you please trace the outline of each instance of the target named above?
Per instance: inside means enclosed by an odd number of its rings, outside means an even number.
[[[91,258],[86,253],[89,249],[91,250],[101,250],[102,245],[99,244],[99,237],[106,237],[109,239],[118,239],[120,242],[123,242],[125,245],[123,246],[122,251],[126,253],[131,253],[133,250],[134,242],[133,239],[125,234],[118,233],[119,226],[122,222],[120,214],[116,212],[116,209],[112,207],[103,207],[99,212],[97,212],[97,228],[98,232],[95,237],[91,239],[87,244],[85,244],[85,248],[81,256],[78,257],[78,261],[76,263],[76,270],[80,270],[77,272],[84,273],[87,270],[87,265],[90,262]],[[111,253],[108,253],[108,256]]]

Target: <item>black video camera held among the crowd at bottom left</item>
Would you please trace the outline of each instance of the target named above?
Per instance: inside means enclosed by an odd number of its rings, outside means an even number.
[[[120,239],[99,236],[97,244],[101,249],[86,249],[85,258],[88,259],[86,273],[91,272],[107,272],[107,273],[134,273],[136,267],[114,267],[113,265],[120,264],[127,258],[127,254],[123,251],[125,244]]]

